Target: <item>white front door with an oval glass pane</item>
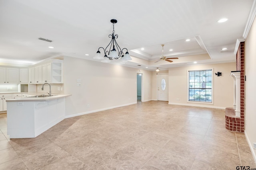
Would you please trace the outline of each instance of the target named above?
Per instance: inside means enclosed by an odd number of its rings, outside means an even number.
[[[168,74],[158,74],[158,100],[168,101]]]

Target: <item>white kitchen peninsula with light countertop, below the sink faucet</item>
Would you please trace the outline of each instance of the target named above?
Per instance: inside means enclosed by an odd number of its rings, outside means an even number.
[[[65,118],[65,98],[71,95],[33,96],[7,102],[10,138],[34,138]]]

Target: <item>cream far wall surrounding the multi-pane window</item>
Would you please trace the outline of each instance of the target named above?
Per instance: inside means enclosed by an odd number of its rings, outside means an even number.
[[[188,70],[211,69],[222,72],[222,76],[213,75],[213,104],[188,102]],[[169,104],[213,107],[224,109],[233,107],[234,80],[230,72],[236,70],[236,63],[207,64],[188,67],[169,68]],[[179,101],[176,99],[179,98]]]

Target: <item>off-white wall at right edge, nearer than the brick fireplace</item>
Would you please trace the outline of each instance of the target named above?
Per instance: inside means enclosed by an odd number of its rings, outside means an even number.
[[[245,41],[245,134],[250,144],[254,159],[256,151],[253,143],[256,143],[256,20],[250,28]]]

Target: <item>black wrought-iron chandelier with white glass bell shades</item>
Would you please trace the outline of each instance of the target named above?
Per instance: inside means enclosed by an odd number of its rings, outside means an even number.
[[[110,20],[110,22],[113,23],[112,34],[108,35],[108,37],[111,38],[111,41],[105,49],[103,47],[100,47],[98,49],[96,55],[93,57],[93,59],[102,60],[101,62],[103,62],[103,63],[110,63],[110,61],[114,60],[114,59],[119,60],[122,63],[127,63],[128,60],[132,60],[132,58],[130,57],[130,55],[128,53],[128,49],[126,49],[126,48],[121,49],[119,47],[118,43],[116,42],[118,35],[114,34],[115,33],[114,25],[115,25],[115,23],[117,23],[117,20],[112,19],[112,20]],[[104,50],[104,57],[103,57],[103,55],[101,55],[100,49]],[[126,52],[124,53],[124,51],[126,51]]]

